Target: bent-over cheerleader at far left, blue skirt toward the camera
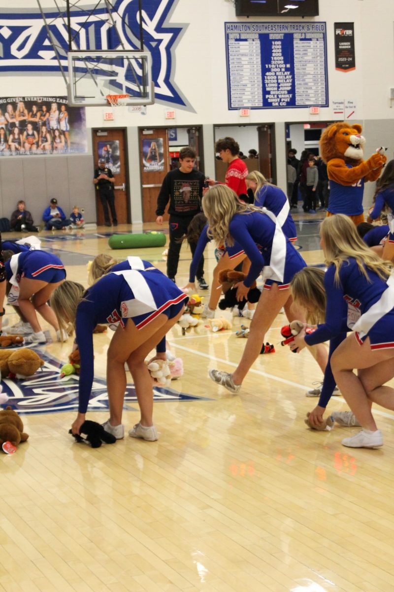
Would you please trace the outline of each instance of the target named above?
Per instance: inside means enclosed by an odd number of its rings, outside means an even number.
[[[67,332],[60,331],[56,316],[48,306],[50,295],[66,278],[61,260],[45,251],[29,250],[12,255],[5,262],[6,276],[24,318],[30,323],[33,333],[24,337],[26,343],[45,343],[46,337],[38,323],[37,314],[53,326],[58,341],[67,339]]]

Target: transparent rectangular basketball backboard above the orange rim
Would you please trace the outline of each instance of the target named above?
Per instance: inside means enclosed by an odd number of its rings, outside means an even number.
[[[152,58],[148,52],[107,50],[71,51],[69,60],[69,105],[103,107],[107,95],[128,94],[126,105],[152,105]]]

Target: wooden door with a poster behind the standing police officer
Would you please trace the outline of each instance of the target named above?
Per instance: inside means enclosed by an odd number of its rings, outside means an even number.
[[[128,169],[126,158],[125,130],[93,130],[93,155],[95,156],[95,169],[99,166],[99,158],[105,158],[108,168],[115,178],[115,210],[119,224],[129,224],[129,190]],[[92,177],[93,178],[93,177]],[[97,224],[104,224],[103,207],[99,194],[96,191]]]

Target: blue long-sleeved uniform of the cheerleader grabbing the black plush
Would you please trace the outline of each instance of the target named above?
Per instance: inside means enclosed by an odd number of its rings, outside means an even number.
[[[124,327],[127,319],[132,318],[137,329],[142,329],[159,314],[173,318],[187,302],[188,296],[171,279],[157,272],[111,271],[84,293],[76,313],[76,343],[81,358],[79,413],[86,413],[92,391],[96,324],[119,322]]]

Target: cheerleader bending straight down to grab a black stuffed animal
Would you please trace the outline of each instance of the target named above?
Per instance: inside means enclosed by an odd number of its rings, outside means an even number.
[[[64,282],[54,291],[51,306],[62,328],[74,323],[81,359],[79,408],[73,433],[79,433],[84,422],[92,391],[93,329],[97,323],[119,323],[107,354],[110,417],[104,426],[116,439],[124,436],[122,409],[127,362],[141,411],[141,419],[129,436],[157,440],[152,420],[152,379],[145,358],[163,342],[181,317],[187,300],[187,295],[171,279],[158,270],[146,271],[145,266],[111,271],[86,291],[74,282]]]

